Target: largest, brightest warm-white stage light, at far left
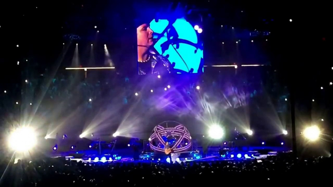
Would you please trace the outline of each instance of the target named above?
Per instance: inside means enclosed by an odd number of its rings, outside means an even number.
[[[24,152],[31,150],[37,143],[35,132],[32,128],[17,128],[9,137],[9,147],[13,150]]]

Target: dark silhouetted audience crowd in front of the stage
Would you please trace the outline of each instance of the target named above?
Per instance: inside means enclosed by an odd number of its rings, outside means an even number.
[[[64,158],[2,161],[6,187],[183,187],[203,185],[304,185],[328,182],[332,159],[265,159],[167,162],[83,163]]]

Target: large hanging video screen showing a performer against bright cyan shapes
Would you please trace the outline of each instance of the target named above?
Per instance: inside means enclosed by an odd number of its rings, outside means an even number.
[[[194,21],[193,21],[194,22]],[[139,75],[203,72],[200,25],[189,18],[154,18],[137,27],[137,70]]]

